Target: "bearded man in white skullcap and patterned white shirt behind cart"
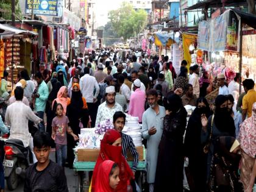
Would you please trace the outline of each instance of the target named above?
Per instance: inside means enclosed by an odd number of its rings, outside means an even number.
[[[101,124],[102,121],[110,119],[113,122],[115,112],[123,112],[123,107],[115,102],[116,91],[114,86],[109,86],[105,91],[105,102],[99,105],[95,126]]]

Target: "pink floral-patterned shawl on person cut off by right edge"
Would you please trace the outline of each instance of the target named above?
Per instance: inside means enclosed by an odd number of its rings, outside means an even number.
[[[239,130],[241,148],[247,155],[254,158],[256,154],[256,102],[252,105],[252,116],[244,120]]]

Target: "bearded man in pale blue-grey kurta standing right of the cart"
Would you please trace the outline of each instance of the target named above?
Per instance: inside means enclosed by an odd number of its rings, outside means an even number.
[[[147,180],[149,192],[154,191],[155,171],[157,169],[158,145],[163,133],[163,118],[165,107],[157,104],[157,91],[149,90],[147,93],[149,108],[142,116],[142,137],[148,139],[147,143]]]

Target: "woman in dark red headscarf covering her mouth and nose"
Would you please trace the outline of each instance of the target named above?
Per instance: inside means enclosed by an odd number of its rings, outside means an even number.
[[[105,132],[104,138],[101,140],[101,152],[99,154],[98,160],[96,162],[93,179],[91,181],[91,192],[96,192],[96,180],[99,177],[99,165],[101,165],[104,160],[112,160],[119,166],[119,179],[120,182],[116,187],[115,191],[127,192],[127,183],[130,179],[133,179],[132,169],[130,169],[126,159],[122,155],[121,147],[121,135],[115,129],[110,129]],[[102,191],[103,192],[103,191]]]

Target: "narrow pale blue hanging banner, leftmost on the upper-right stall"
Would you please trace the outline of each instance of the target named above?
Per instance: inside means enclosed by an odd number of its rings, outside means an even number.
[[[209,49],[209,27],[208,21],[202,21],[198,26],[197,48],[205,51]]]

